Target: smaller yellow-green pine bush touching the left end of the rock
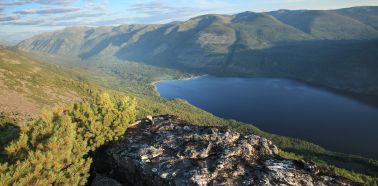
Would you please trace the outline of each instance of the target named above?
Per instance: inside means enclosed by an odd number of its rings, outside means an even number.
[[[78,125],[78,132],[91,150],[123,135],[129,123],[135,120],[136,101],[125,97],[120,102],[109,94],[98,95],[95,103],[82,102],[73,106],[70,116]]]

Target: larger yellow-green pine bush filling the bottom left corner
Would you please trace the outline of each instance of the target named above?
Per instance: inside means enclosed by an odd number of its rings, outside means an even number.
[[[69,116],[44,112],[21,127],[18,141],[6,148],[0,185],[83,185],[89,174],[89,151]]]

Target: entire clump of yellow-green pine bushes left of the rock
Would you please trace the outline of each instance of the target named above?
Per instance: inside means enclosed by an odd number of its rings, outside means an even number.
[[[88,153],[121,137],[135,120],[135,107],[128,97],[115,102],[101,94],[92,101],[44,111],[20,126],[19,138],[5,148],[0,185],[85,185],[92,162]],[[8,141],[7,137],[1,142]]]

